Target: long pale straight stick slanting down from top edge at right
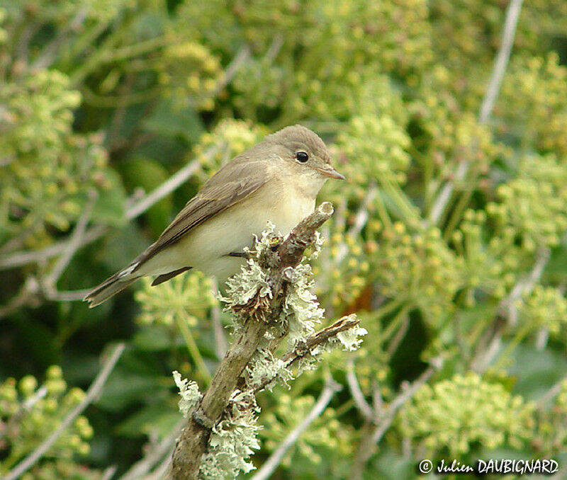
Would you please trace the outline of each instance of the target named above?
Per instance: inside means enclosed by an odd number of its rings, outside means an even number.
[[[518,22],[518,17],[520,16],[520,9],[522,8],[523,0],[511,0],[506,11],[506,18],[504,23],[504,30],[502,35],[502,41],[500,42],[500,50],[498,50],[498,55],[495,58],[492,73],[490,74],[490,81],[488,82],[488,88],[486,89],[483,103],[478,112],[478,123],[479,125],[484,125],[494,108],[494,103],[498,92],[500,91],[500,86],[502,85],[502,80],[506,72],[506,67],[508,64],[508,59],[510,59],[510,52],[512,51],[512,45],[514,45],[514,36],[516,33],[516,25]],[[470,163],[468,161],[461,161],[459,167],[457,168],[454,178],[447,181],[443,186],[441,193],[434,201],[429,222],[430,224],[437,224],[442,212],[447,207],[447,203],[451,198],[454,190],[454,184],[462,181],[466,173],[468,172],[468,167]]]

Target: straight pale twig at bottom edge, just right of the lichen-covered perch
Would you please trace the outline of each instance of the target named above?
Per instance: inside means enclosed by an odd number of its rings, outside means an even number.
[[[319,399],[313,405],[313,408],[309,411],[307,416],[303,418],[301,423],[293,428],[291,432],[288,434],[286,438],[283,439],[283,442],[279,445],[279,447],[274,450],[274,452],[269,456],[269,458],[264,462],[262,468],[258,470],[252,479],[250,480],[266,480],[269,479],[271,474],[274,473],[274,470],[279,466],[281,460],[283,459],[286,452],[290,449],[292,445],[294,445],[298,440],[301,434],[308,429],[309,425],[318,418],[322,411],[325,410],[327,405],[332,399],[332,396],[335,392],[339,392],[341,389],[340,385],[332,379],[332,377],[327,378],[327,382],[325,382],[325,388],[322,390]]]

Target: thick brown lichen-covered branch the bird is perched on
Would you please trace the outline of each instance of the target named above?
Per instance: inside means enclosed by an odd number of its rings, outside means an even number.
[[[303,219],[285,240],[274,245],[273,251],[266,253],[263,266],[268,270],[271,302],[266,300],[267,297],[259,297],[257,293],[246,305],[235,307],[235,312],[242,316],[242,327],[181,432],[168,472],[169,478],[196,479],[201,457],[208,446],[211,428],[220,420],[242,372],[281,311],[286,289],[284,270],[298,265],[305,248],[315,239],[315,231],[330,218],[332,211],[330,203],[322,203],[318,210]]]

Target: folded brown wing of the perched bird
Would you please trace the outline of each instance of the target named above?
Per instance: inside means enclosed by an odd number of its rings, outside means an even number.
[[[270,176],[271,169],[268,168],[266,161],[251,161],[246,156],[237,156],[209,178],[199,193],[176,215],[159,239],[130,264],[133,266],[132,271],[137,270],[142,263],[163,248],[179,241],[207,219],[236,205],[262,188]]]

